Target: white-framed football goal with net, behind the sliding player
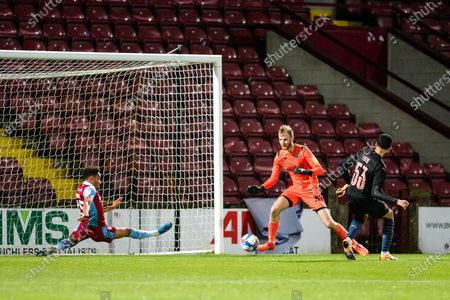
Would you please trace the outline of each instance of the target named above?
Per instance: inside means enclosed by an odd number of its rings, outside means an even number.
[[[70,253],[213,250],[221,233],[220,56],[0,51],[0,254],[32,254],[77,226],[84,167],[100,167],[109,226],[158,238]],[[215,252],[221,252],[216,234]]]

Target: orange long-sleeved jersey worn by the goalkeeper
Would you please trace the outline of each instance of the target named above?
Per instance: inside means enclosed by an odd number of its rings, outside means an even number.
[[[294,174],[295,168],[311,170],[313,175]],[[263,183],[266,190],[272,188],[278,182],[282,169],[289,172],[295,187],[305,191],[318,191],[319,179],[317,176],[325,173],[325,170],[308,147],[294,144],[294,150],[292,152],[283,149],[278,151],[273,160],[272,175]]]

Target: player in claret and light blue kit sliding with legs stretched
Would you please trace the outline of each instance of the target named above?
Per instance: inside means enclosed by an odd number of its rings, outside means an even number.
[[[78,207],[81,212],[81,217],[78,219],[80,221],[78,228],[67,239],[63,239],[56,246],[36,253],[37,256],[51,255],[70,249],[88,238],[96,242],[111,243],[112,240],[123,237],[133,239],[154,237],[170,230],[172,227],[172,223],[170,222],[153,231],[109,227],[105,222],[104,212],[115,209],[122,201],[122,198],[115,200],[111,206],[103,207],[103,202],[97,191],[101,184],[100,177],[100,170],[98,168],[85,168],[83,170],[83,178],[85,181],[80,185],[76,193]]]

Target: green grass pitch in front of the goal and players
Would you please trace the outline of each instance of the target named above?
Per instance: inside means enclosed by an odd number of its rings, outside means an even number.
[[[0,257],[0,299],[450,299],[450,256],[397,257]]]

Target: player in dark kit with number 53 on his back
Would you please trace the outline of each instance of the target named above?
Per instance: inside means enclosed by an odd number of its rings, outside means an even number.
[[[381,134],[377,139],[375,150],[366,151],[368,150],[366,149],[341,162],[341,167],[345,169],[352,161],[356,161],[352,178],[346,172],[343,177],[347,184],[336,190],[338,197],[347,193],[348,206],[353,214],[347,238],[342,242],[348,259],[355,259],[351,241],[364,223],[366,215],[369,215],[373,218],[384,218],[380,260],[397,260],[389,253],[394,233],[394,213],[385,203],[397,204],[403,209],[406,209],[409,203],[383,191],[386,165],[382,157],[391,150],[391,146],[391,136]]]

